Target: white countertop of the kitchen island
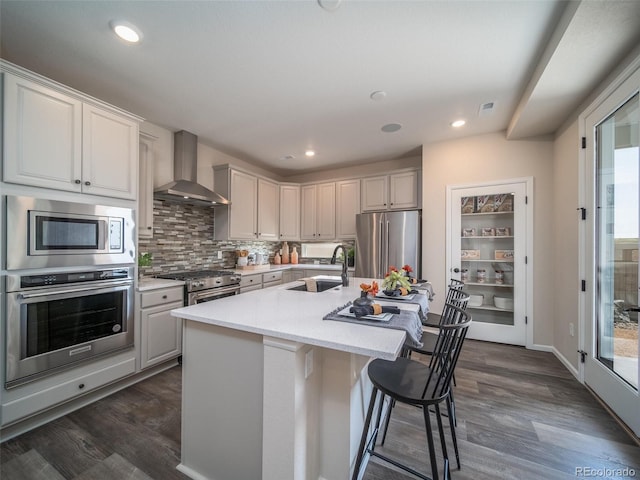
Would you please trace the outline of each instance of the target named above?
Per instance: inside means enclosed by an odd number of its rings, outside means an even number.
[[[330,311],[359,297],[362,282],[370,283],[371,279],[351,278],[349,287],[339,286],[311,293],[288,290],[304,283],[295,281],[178,308],[171,314],[211,325],[393,360],[404,344],[403,330],[322,319]]]

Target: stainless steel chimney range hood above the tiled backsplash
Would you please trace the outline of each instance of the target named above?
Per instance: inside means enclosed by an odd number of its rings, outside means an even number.
[[[207,207],[231,202],[197,183],[198,137],[181,130],[173,136],[173,182],[154,190],[154,198]]]

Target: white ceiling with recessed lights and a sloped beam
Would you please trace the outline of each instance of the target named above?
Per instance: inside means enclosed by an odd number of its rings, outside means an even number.
[[[0,22],[2,58],[285,176],[552,134],[640,43],[637,0],[1,0]]]

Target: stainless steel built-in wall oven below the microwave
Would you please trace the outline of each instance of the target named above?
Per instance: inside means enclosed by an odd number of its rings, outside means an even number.
[[[6,388],[133,347],[133,274],[7,275]]]

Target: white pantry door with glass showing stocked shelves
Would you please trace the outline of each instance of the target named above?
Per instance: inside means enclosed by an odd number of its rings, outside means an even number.
[[[467,335],[526,345],[527,182],[448,190],[448,271],[471,297]]]

